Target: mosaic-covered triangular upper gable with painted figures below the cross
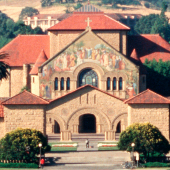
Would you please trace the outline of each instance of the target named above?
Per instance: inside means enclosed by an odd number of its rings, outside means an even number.
[[[74,71],[80,64],[93,62],[105,71],[135,70],[136,66],[92,31],[84,32],[74,42],[45,62],[40,68],[43,75],[55,71]]]

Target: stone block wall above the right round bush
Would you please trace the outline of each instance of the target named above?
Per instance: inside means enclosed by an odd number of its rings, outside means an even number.
[[[168,104],[133,104],[128,106],[128,125],[149,122],[169,140]]]

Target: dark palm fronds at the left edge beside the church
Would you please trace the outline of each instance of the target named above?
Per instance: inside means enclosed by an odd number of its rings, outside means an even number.
[[[8,55],[6,53],[0,53],[0,80],[7,79],[9,76],[9,66],[3,61]]]

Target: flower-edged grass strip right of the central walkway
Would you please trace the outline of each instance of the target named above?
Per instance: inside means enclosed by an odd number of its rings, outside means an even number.
[[[98,150],[99,151],[115,151],[119,150],[118,146],[110,146],[115,145],[117,142],[98,142]]]

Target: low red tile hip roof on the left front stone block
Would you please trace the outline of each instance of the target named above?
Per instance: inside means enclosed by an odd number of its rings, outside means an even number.
[[[23,92],[5,100],[3,105],[39,105],[49,104],[49,102],[35,94],[32,94],[26,90]]]

